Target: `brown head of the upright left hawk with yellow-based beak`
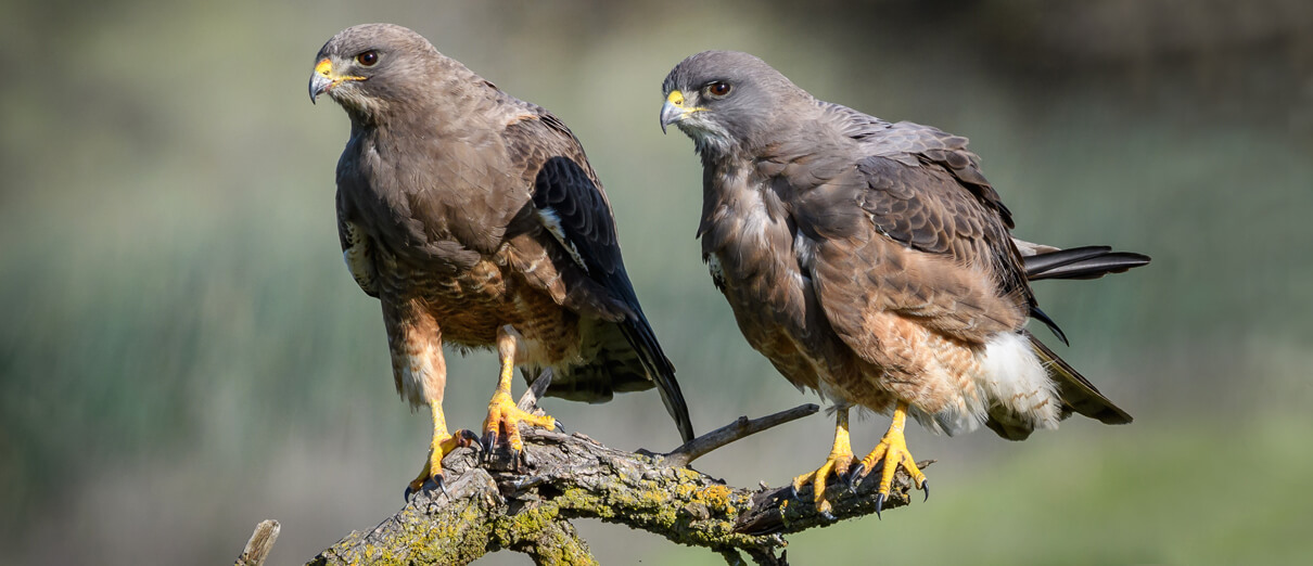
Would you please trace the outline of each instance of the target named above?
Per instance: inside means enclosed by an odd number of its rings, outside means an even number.
[[[428,39],[399,25],[347,28],[315,55],[310,101],[328,95],[353,120],[378,116],[393,104],[423,97],[440,59]]]

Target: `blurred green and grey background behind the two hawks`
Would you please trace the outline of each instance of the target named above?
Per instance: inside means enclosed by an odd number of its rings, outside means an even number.
[[[700,431],[815,398],[744,344],[699,260],[699,163],[656,121],[696,51],[970,137],[1024,239],[1154,257],[1039,288],[1060,353],[1134,424],[914,428],[935,496],[793,536],[794,563],[1313,555],[1313,4],[0,4],[0,562],[223,563],[272,517],[270,563],[299,563],[402,504],[428,416],[394,394],[377,302],[341,264],[347,118],[306,100],[319,46],[366,21],[574,129]],[[450,373],[448,419],[477,425],[495,360]],[[655,393],[545,404],[618,448],[678,440]],[[885,425],[860,420],[855,449]],[[818,415],[699,468],[781,485],[830,435]],[[722,563],[580,523],[603,563]]]

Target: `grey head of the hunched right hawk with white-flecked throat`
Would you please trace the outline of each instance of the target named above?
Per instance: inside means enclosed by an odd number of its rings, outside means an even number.
[[[788,131],[811,95],[762,59],[739,51],[702,51],[684,59],[662,84],[660,127],[674,123],[704,158],[747,151]]]

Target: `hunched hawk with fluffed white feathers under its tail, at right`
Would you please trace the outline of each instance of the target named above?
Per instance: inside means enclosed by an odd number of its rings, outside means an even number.
[[[1057,332],[1027,277],[1088,278],[1148,257],[1014,243],[966,138],[817,100],[752,55],[689,56],[663,95],[662,129],[676,125],[702,160],[697,235],[739,328],[792,383],[836,404],[830,457],[794,479],[814,483],[821,511],[827,475],[855,460],[852,406],[893,414],[850,475],[882,466],[877,510],[899,465],[924,487],[909,414],[936,432],[985,423],[1012,440],[1073,411],[1130,422],[1024,330],[1035,316]]]

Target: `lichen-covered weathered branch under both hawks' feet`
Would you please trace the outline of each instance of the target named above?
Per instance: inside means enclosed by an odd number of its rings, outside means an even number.
[[[415,494],[397,515],[369,532],[348,534],[310,563],[461,565],[509,549],[529,554],[538,565],[591,565],[596,559],[569,521],[595,517],[706,548],[729,563],[746,563],[741,554],[746,553],[755,563],[784,565],[779,553],[784,534],[874,512],[874,477],[855,491],[832,482],[827,491],[831,520],[817,513],[811,487],[796,496],[788,486],[731,487],[685,462],[811,412],[814,406],[804,406],[756,420],[743,418],[670,454],[622,452],[580,433],[525,428],[527,462],[506,450],[458,449],[442,462],[445,491]],[[906,506],[909,490],[911,482],[899,470],[884,508]]]

